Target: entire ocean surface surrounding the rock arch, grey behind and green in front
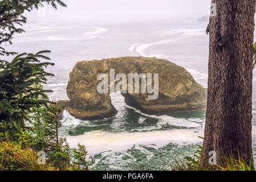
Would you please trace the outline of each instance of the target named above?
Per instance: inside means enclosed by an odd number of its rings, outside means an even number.
[[[167,59],[185,67],[202,86],[208,81],[207,23],[165,19],[155,22],[29,22],[25,34],[13,39],[9,50],[37,52],[49,49],[55,63],[47,68],[55,77],[44,87],[52,101],[67,100],[69,73],[78,61],[119,56]],[[253,87],[253,150],[256,151],[256,78]],[[149,115],[127,106],[119,92],[111,94],[117,114],[82,121],[64,111],[61,137],[72,148],[78,143],[94,156],[93,169],[168,169],[173,158],[193,155],[204,137],[205,110]]]

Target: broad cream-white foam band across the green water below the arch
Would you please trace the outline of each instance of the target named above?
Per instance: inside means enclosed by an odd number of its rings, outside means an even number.
[[[91,154],[100,154],[102,152],[123,152],[133,147],[141,150],[140,145],[160,148],[166,144],[173,143],[179,146],[187,144],[196,144],[202,142],[203,130],[196,129],[173,129],[165,131],[149,131],[137,133],[109,133],[107,131],[90,131],[79,136],[67,136],[67,142],[71,148],[77,148],[77,144],[84,144],[87,151]],[[151,154],[145,151],[149,156]],[[104,154],[107,155],[107,154]]]

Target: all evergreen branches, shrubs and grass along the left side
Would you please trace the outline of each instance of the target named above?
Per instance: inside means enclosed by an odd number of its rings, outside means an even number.
[[[55,9],[66,6],[59,0],[1,1],[0,45],[11,44],[14,34],[24,32],[20,28],[27,20],[23,13],[42,3]],[[88,170],[86,147],[71,150],[58,135],[63,107],[48,100],[51,90],[42,86],[47,77],[54,76],[44,70],[54,65],[46,53],[50,51],[17,55],[0,47],[5,59],[14,56],[11,61],[0,60],[0,170]],[[46,163],[40,164],[39,158]]]

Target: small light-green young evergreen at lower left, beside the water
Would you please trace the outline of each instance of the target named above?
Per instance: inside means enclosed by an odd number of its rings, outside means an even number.
[[[64,107],[48,104],[36,108],[31,115],[32,148],[46,152],[47,162],[64,170],[70,168],[70,146],[66,138],[60,138],[58,132],[58,117]]]

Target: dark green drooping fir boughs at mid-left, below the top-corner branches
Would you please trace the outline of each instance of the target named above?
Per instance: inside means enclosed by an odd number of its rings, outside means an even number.
[[[37,107],[46,106],[50,101],[42,84],[46,84],[48,76],[54,76],[44,71],[50,62],[45,56],[50,51],[40,51],[36,54],[23,53],[13,61],[1,61],[0,64],[0,133],[9,132],[9,137],[25,128],[28,114]]]

